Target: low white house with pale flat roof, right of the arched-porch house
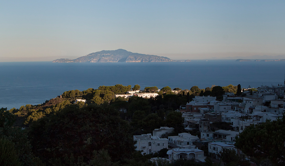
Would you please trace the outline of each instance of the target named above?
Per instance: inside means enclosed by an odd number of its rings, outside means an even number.
[[[235,151],[236,148],[234,148],[233,144],[225,144],[223,142],[209,142],[208,144],[208,152],[209,154],[212,153],[212,157],[215,159],[218,159],[217,154],[220,153],[220,151],[222,151],[224,149],[234,149]]]

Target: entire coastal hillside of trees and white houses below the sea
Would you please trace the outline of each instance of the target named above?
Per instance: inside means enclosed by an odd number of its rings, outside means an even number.
[[[1,108],[0,133],[21,146],[30,142],[30,160],[18,151],[25,165],[36,156],[35,165],[73,164],[68,156],[96,165],[103,153],[109,165],[283,165],[284,97],[281,84],[99,86],[66,91],[39,105]]]

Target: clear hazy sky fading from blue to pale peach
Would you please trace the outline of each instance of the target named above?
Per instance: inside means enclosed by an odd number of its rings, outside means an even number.
[[[285,1],[0,1],[0,61],[285,55]]]

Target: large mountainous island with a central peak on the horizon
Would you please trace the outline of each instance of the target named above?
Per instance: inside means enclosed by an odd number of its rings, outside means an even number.
[[[191,61],[191,60],[186,60]],[[56,59],[54,63],[73,63],[73,62],[181,62],[179,60],[160,57],[157,55],[146,55],[132,53],[124,49],[103,50],[79,57],[77,59]]]

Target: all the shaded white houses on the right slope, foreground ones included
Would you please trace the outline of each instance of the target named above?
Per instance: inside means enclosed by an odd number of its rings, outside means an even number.
[[[161,138],[162,134],[173,131],[173,128],[161,127],[153,130],[152,135],[133,136],[137,141],[137,150],[142,150],[142,154],[149,154],[168,148],[169,162],[181,158],[204,161],[204,152],[193,142],[207,144],[209,154],[216,159],[223,148],[233,149],[240,154],[241,151],[234,146],[236,136],[251,124],[282,118],[285,105],[284,85],[261,86],[252,95],[249,92],[246,94],[245,97],[240,97],[226,93],[223,101],[216,101],[216,97],[211,96],[196,96],[193,101],[181,105],[176,111],[182,112],[185,130],[190,132],[198,129],[201,132],[200,138],[189,133]],[[214,130],[211,124],[215,122],[227,122],[232,128]]]

